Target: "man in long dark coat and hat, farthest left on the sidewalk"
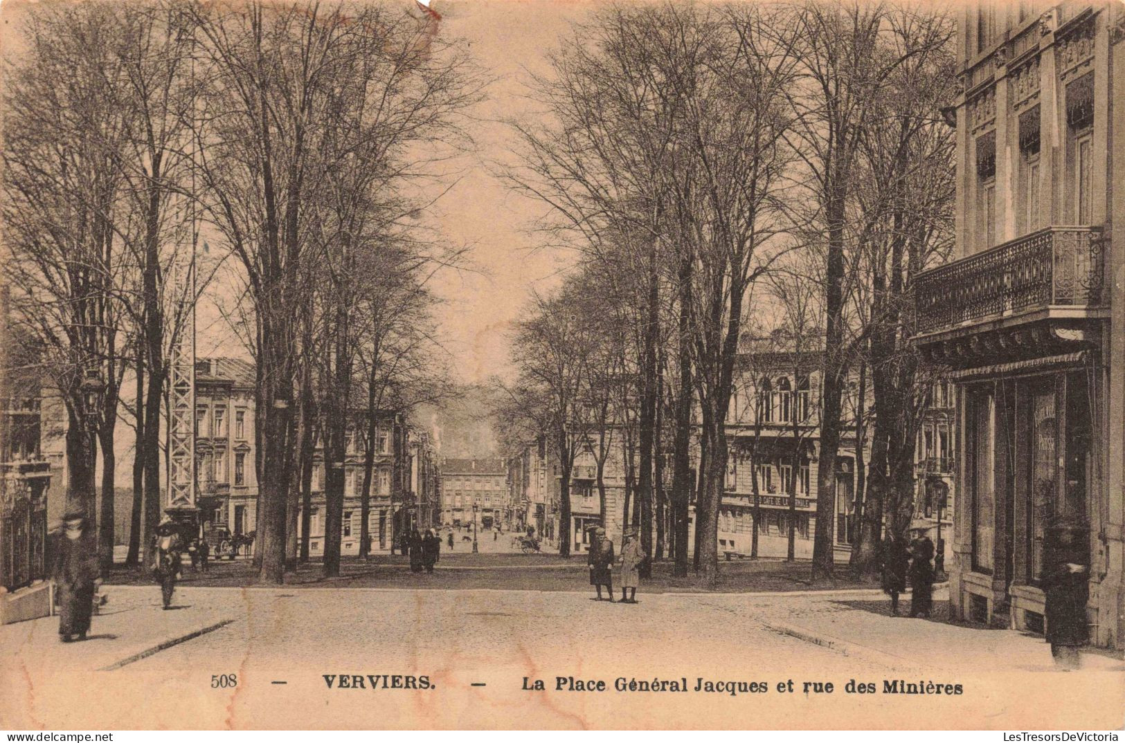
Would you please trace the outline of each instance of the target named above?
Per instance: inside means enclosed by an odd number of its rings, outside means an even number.
[[[58,640],[86,640],[93,614],[93,595],[101,585],[93,535],[86,515],[63,516],[63,526],[52,535],[52,577],[58,589]]]

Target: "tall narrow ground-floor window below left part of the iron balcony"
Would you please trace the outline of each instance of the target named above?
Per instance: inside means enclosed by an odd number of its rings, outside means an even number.
[[[992,393],[979,390],[969,399],[969,483],[972,487],[973,570],[991,573],[994,559],[996,496]]]

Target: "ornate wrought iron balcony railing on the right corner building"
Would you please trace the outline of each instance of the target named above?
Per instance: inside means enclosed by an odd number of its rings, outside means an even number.
[[[1047,227],[915,279],[917,333],[1051,307],[1102,302],[1100,227]]]

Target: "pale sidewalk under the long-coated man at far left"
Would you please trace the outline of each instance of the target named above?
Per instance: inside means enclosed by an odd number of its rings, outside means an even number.
[[[86,642],[58,641],[58,617],[6,625],[0,631],[0,656],[10,668],[32,677],[66,671],[112,670],[230,624],[230,609],[192,605],[181,591],[173,609],[163,610],[160,587],[107,587],[109,602],[93,617]]]

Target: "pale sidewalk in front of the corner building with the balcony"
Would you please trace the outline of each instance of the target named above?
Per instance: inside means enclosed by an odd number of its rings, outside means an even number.
[[[767,624],[776,632],[846,655],[930,673],[1054,670],[1051,646],[1042,636],[943,620],[948,607],[946,590],[936,591],[934,598],[934,619],[889,616],[886,599],[842,598],[825,601],[819,610]],[[901,608],[909,604],[910,596],[903,596]],[[1119,653],[1089,649],[1082,653],[1082,668],[1120,672],[1125,661]]]

